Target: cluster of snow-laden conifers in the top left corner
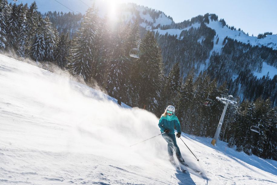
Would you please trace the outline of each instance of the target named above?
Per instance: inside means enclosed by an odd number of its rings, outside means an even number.
[[[31,57],[35,61],[54,61],[57,29],[49,18],[42,18],[36,3],[8,4],[0,2],[0,45],[1,50],[13,50],[21,57]]]

